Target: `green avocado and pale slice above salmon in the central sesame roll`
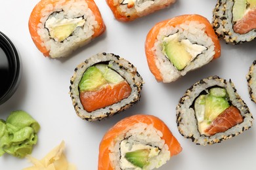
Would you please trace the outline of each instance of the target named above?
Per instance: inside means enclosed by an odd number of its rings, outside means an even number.
[[[105,84],[118,84],[124,78],[116,71],[111,69],[110,65],[97,64],[86,69],[79,82],[80,92],[96,91]]]

